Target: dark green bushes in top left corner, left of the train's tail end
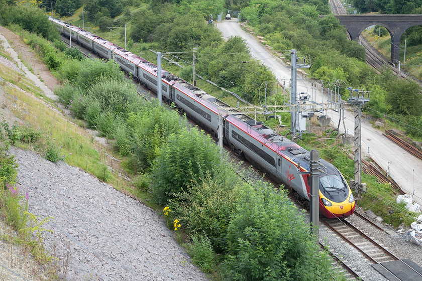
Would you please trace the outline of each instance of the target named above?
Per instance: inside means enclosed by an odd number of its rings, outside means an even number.
[[[59,39],[58,31],[51,25],[43,11],[38,8],[24,5],[2,6],[2,9],[0,9],[0,24],[3,26],[16,24],[45,39]]]

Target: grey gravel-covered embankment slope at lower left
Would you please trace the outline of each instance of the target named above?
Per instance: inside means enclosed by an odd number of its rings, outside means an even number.
[[[12,149],[21,193],[43,225],[45,248],[64,255],[69,280],[207,280],[154,210],[64,162]],[[60,257],[62,258],[62,257]]]

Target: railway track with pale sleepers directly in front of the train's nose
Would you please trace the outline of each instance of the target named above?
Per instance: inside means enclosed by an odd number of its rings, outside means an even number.
[[[357,249],[372,263],[376,264],[379,269],[381,268],[384,272],[387,272],[388,276],[392,276],[389,278],[389,280],[422,280],[422,273],[418,272],[416,269],[413,269],[408,263],[404,262],[393,253],[391,253],[388,248],[385,248],[381,243],[373,240],[367,234],[356,228],[347,219],[320,219],[320,221],[342,239],[347,241],[355,249]],[[392,261],[396,261],[396,264],[400,264],[401,266],[405,267],[405,275],[413,276],[413,279],[403,278],[402,274],[398,274],[395,271],[390,271],[387,268],[386,263]],[[379,269],[377,270],[379,271]]]

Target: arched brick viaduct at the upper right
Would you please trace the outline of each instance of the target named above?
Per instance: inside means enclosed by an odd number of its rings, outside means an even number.
[[[385,27],[391,36],[391,61],[398,61],[400,38],[412,26],[422,25],[422,15],[335,15],[345,26],[351,40],[358,40],[365,28],[373,25]]]

